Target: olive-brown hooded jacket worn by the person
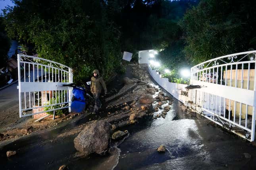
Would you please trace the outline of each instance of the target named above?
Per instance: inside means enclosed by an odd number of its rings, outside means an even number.
[[[92,93],[101,93],[102,89],[104,89],[105,93],[107,93],[107,87],[102,77],[100,77],[99,70],[94,70],[92,72],[97,73],[97,76],[90,79],[90,91]]]

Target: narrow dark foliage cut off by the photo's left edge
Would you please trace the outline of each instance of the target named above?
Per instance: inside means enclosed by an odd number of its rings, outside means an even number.
[[[10,49],[11,42],[4,31],[3,19],[0,17],[0,68],[7,66],[8,51]]]

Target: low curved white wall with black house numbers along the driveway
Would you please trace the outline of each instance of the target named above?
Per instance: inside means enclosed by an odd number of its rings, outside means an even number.
[[[156,70],[152,70],[150,66],[148,66],[148,72],[152,76],[152,78],[167,92],[169,92],[173,97],[177,98],[183,104],[191,100],[191,91],[187,91],[185,84],[171,83],[167,78],[162,78],[156,72]]]

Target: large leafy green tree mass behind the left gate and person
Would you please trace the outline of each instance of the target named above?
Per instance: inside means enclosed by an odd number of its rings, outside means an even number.
[[[94,69],[105,77],[120,65],[120,32],[101,0],[14,0],[4,11],[8,35],[33,43],[38,57],[73,68],[79,84]],[[108,11],[111,12],[111,11]],[[85,68],[87,67],[87,68]]]

